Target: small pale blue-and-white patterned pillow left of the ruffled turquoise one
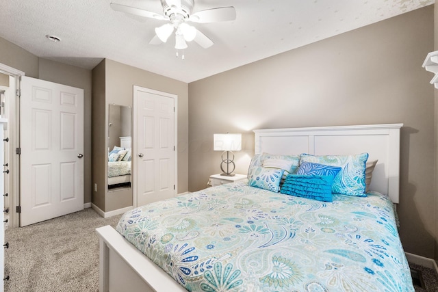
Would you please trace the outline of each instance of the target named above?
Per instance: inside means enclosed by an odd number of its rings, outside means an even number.
[[[278,193],[283,172],[284,170],[276,168],[262,168],[256,166],[253,168],[253,173],[250,175],[248,185],[251,187],[259,187],[260,189],[268,189],[269,191]]]

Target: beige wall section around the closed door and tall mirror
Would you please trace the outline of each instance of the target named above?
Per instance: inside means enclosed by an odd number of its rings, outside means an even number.
[[[102,72],[104,72],[104,79],[102,79]],[[94,88],[95,83],[96,85],[99,84],[100,89]],[[105,86],[104,90],[101,88],[102,83]],[[99,66],[93,69],[93,107],[96,105],[107,109],[110,103],[133,107],[133,85],[168,92],[178,96],[177,191],[178,194],[188,191],[188,84],[105,59]],[[99,97],[97,94],[99,94]],[[107,131],[107,116],[105,116],[105,112],[99,112],[100,114],[97,116],[93,109],[93,183],[104,185],[102,181],[106,175],[106,162],[102,163],[102,161],[106,161],[107,142],[106,135],[102,135]],[[98,191],[93,192],[92,201],[105,212],[129,207],[133,204],[132,195],[128,197],[119,191],[105,194],[102,187],[98,187]]]

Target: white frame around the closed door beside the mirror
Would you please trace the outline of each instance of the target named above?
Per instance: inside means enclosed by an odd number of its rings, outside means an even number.
[[[136,137],[136,133],[137,133],[137,118],[138,118],[138,114],[137,114],[137,90],[142,90],[143,92],[149,92],[151,94],[158,94],[158,95],[162,95],[162,96],[166,96],[169,98],[173,98],[174,99],[174,106],[175,106],[175,114],[174,114],[174,142],[175,142],[175,151],[174,153],[174,158],[175,158],[175,167],[174,167],[174,177],[175,177],[175,191],[174,191],[174,196],[177,195],[178,193],[178,96],[176,94],[171,94],[168,92],[162,92],[162,91],[158,91],[158,90],[153,90],[151,88],[144,88],[138,85],[133,85],[133,137],[131,140],[131,145],[132,145],[132,157],[137,157],[138,155],[138,150],[137,150],[137,137]],[[138,174],[137,174],[137,161],[138,159],[132,159],[132,170],[133,170],[133,176],[132,176],[132,181],[133,181],[133,188],[132,188],[132,192],[133,192],[133,197],[132,197],[132,204],[133,207],[136,208],[137,206],[137,181],[138,181]]]

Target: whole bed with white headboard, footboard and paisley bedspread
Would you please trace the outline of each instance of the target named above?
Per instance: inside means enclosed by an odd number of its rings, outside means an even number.
[[[394,215],[401,127],[255,130],[248,182],[148,204],[116,230],[97,229],[100,291],[413,291]],[[375,161],[367,195],[283,194],[310,176],[283,176],[268,161],[297,155],[298,172],[334,156]],[[262,169],[283,181],[280,192],[257,185]]]

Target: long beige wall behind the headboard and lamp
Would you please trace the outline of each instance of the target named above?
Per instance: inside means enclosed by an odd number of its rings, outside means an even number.
[[[428,6],[190,83],[189,190],[220,172],[213,133],[244,133],[246,173],[253,129],[402,122],[400,237],[433,258],[434,98],[422,68],[433,21]]]

